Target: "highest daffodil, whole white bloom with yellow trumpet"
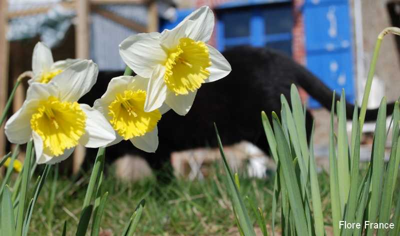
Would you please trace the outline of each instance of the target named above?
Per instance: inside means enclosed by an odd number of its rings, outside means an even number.
[[[214,27],[208,6],[200,7],[171,30],[138,33],[119,45],[123,61],[138,75],[149,78],[144,110],[165,103],[185,115],[202,83],[226,76],[225,57],[206,44]]]

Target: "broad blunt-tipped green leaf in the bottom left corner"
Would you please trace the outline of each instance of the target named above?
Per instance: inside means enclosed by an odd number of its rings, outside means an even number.
[[[12,209],[11,193],[8,185],[3,188],[1,199],[1,235],[15,235],[14,211]]]

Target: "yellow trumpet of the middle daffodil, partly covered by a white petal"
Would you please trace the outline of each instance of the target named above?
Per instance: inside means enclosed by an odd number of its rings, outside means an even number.
[[[109,122],[125,140],[152,131],[161,118],[158,109],[144,112],[145,97],[144,90],[125,90],[108,105]]]

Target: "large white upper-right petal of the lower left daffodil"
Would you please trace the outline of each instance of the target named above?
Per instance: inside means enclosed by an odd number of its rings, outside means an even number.
[[[91,60],[79,60],[57,74],[49,83],[59,88],[61,101],[77,101],[97,80],[98,67]]]

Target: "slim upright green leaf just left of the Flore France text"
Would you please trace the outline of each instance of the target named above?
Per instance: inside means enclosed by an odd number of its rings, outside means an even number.
[[[334,91],[333,91],[334,94]],[[335,137],[333,131],[333,112],[334,111],[334,98],[332,99],[332,109],[330,111],[330,125],[329,125],[329,185],[330,185],[330,199],[332,209],[332,224],[333,235],[340,235],[339,221],[341,219],[340,196],[339,196],[339,182],[337,177],[337,160],[335,153]]]

